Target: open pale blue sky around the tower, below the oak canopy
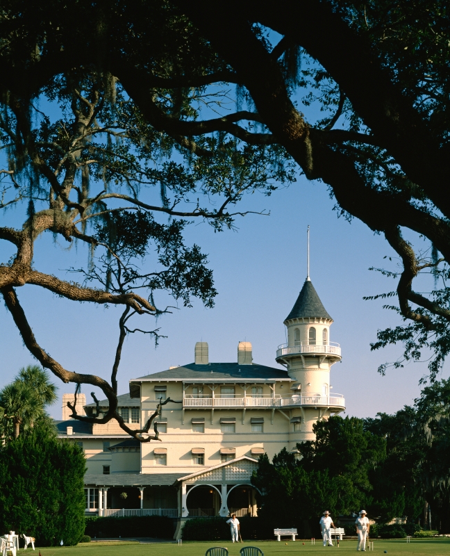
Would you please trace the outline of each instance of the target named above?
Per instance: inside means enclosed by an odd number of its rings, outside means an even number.
[[[246,208],[265,208],[270,215],[240,218],[237,231],[215,234],[208,224],[190,226],[188,242],[201,245],[215,272],[219,291],[215,307],[205,309],[194,302],[192,309],[180,306],[160,317],[157,326],[167,338],[157,348],[149,336],[129,336],[119,371],[120,393],[127,391],[133,377],[192,362],[196,341],[209,343],[210,361],[235,361],[238,342],[251,341],[253,360],[276,366],[276,348],[285,341],[283,320],[306,278],[306,228],[310,224],[311,279],[335,321],[330,339],[342,347],[342,363],[331,370],[333,391],[344,394],[347,414],[360,417],[375,416],[378,411],[392,413],[410,404],[419,393],[426,363],[388,370],[385,377],[378,375],[378,365],[394,360],[400,350],[391,347],[370,352],[369,343],[376,338],[377,329],[394,325],[399,318],[381,309],[382,302],[362,299],[394,289],[393,281],[367,270],[385,264],[383,256],[393,256],[393,252],[383,237],[374,235],[365,224],[337,218],[333,204],[322,183],[299,177],[297,183],[277,190],[272,197],[256,194],[245,199]],[[3,222],[14,221],[14,210],[6,213]],[[12,254],[4,244],[0,243],[3,261]],[[36,245],[35,267],[60,277],[63,269],[84,264],[86,259],[83,246],[67,250],[59,240],[53,243],[51,234],[44,234]],[[17,293],[38,341],[49,354],[69,370],[110,375],[120,309],[70,302],[35,286],[18,288]],[[163,296],[158,300],[161,305],[174,304]],[[154,322],[149,324],[154,326]],[[33,363],[3,304],[0,338],[3,385],[21,366]],[[443,376],[448,376],[448,370]],[[58,386],[60,394],[72,391],[72,385]],[[83,389],[89,398],[90,387]],[[60,402],[51,414],[60,417]]]

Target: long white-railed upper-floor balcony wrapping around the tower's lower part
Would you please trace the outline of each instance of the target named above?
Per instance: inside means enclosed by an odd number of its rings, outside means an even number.
[[[183,398],[184,409],[241,409],[241,408],[269,408],[277,407],[342,407],[345,408],[345,400],[342,394],[323,395],[307,393],[305,395],[294,394],[288,398],[280,396],[261,396],[259,398]]]

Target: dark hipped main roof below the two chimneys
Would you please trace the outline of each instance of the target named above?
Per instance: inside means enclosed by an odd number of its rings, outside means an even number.
[[[163,370],[153,375],[145,375],[133,380],[169,380],[169,379],[196,379],[196,380],[223,380],[223,379],[288,379],[288,372],[284,369],[266,367],[252,363],[251,365],[239,365],[238,363],[208,363],[208,365],[196,365],[189,363],[182,367]]]

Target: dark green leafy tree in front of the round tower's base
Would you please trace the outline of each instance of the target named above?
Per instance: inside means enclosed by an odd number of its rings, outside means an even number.
[[[364,430],[358,418],[331,417],[314,425],[315,441],[297,444],[301,459],[285,448],[269,462],[260,457],[252,482],[260,490],[260,512],[297,526],[328,509],[332,516],[365,507],[372,496],[369,476],[385,459],[385,441]]]

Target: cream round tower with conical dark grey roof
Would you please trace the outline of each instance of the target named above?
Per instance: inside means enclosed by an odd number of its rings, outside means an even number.
[[[333,319],[322,304],[309,276],[284,324],[288,343],[280,345],[276,361],[285,365],[292,378],[290,398],[281,405],[290,411],[290,441],[313,440],[313,424],[345,409],[344,397],[333,393],[331,366],[340,361],[338,343],[330,341]]]

